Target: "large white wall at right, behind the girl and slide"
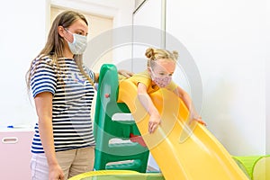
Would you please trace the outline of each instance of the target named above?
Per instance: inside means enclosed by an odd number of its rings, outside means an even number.
[[[202,118],[232,155],[266,153],[264,3],[166,1],[166,32],[184,44],[202,77]]]

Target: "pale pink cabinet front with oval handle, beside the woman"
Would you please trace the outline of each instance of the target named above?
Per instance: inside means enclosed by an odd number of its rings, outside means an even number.
[[[31,179],[33,131],[0,132],[0,179]]]

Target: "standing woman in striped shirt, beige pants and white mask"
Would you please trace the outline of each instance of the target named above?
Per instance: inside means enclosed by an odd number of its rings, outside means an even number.
[[[39,117],[31,146],[32,179],[62,180],[93,170],[90,111],[99,74],[82,61],[87,31],[84,15],[58,14],[44,49],[31,62],[28,87]]]

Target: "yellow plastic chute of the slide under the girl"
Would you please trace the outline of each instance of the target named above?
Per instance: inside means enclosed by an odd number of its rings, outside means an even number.
[[[126,103],[142,138],[166,180],[246,180],[229,152],[202,124],[188,122],[184,103],[172,92],[150,94],[161,114],[157,130],[148,133],[148,112],[137,99],[137,86],[128,79],[119,86],[119,103]]]

